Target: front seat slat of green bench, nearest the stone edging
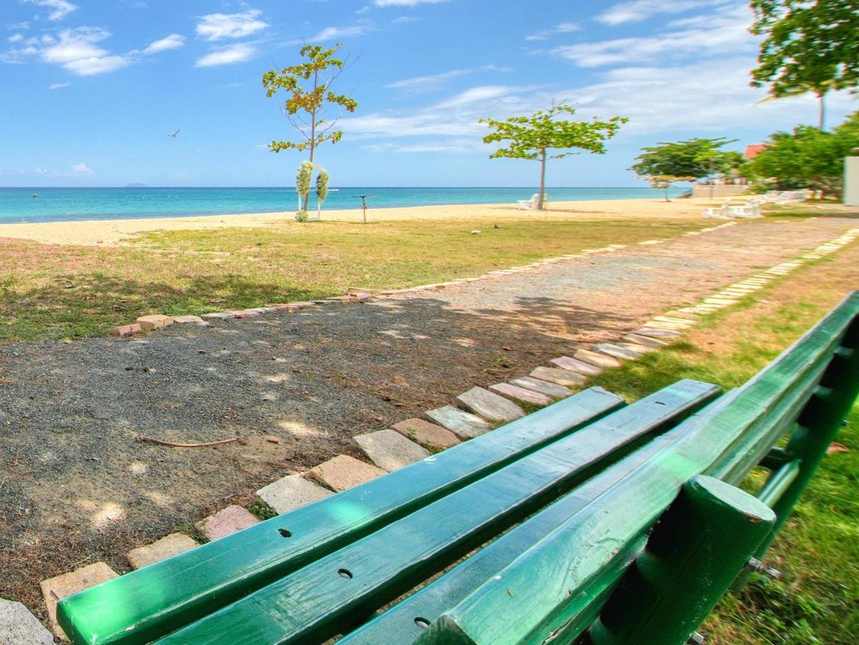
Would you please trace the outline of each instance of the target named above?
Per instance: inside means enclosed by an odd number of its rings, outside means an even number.
[[[59,624],[76,645],[150,642],[623,405],[606,390],[584,390],[432,458],[63,599]]]

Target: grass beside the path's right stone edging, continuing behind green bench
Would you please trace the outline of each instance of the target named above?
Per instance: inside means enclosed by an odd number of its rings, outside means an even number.
[[[679,378],[743,384],[859,288],[859,245],[709,316],[685,340],[593,379],[630,400]],[[850,452],[827,457],[777,538],[768,562],[783,581],[755,577],[728,594],[701,631],[709,643],[847,645],[859,634],[859,406],[838,436]],[[762,474],[746,488],[758,490]]]

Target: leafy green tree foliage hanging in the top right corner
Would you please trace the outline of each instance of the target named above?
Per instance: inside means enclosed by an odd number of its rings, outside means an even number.
[[[823,130],[825,96],[859,83],[856,0],[752,0],[752,10],[752,34],[765,36],[752,86],[769,84],[773,99],[813,93]]]

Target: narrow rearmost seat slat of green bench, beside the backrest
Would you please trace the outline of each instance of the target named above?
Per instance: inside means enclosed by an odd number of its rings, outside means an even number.
[[[338,645],[411,645],[423,634],[425,625],[431,624],[444,611],[454,607],[516,557],[582,510],[588,502],[640,467],[676,439],[678,432],[679,428],[674,428],[643,445],[617,465],[589,479],[550,507],[485,546],[437,581],[344,636]]]

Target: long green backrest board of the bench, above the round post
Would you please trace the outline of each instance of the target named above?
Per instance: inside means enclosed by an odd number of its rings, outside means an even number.
[[[754,465],[749,454],[790,429],[797,400],[807,401],[857,312],[854,293],[756,378],[682,423],[642,467],[442,613],[417,643],[570,642],[581,634],[691,476],[710,470],[739,481]]]

